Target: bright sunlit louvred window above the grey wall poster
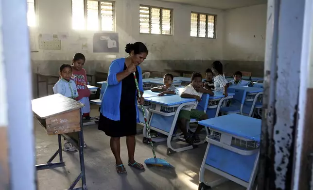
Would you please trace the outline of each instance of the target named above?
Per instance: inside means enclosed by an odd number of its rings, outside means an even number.
[[[74,30],[114,31],[114,2],[72,0]]]

